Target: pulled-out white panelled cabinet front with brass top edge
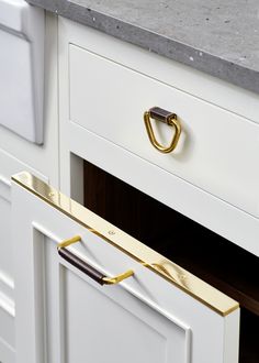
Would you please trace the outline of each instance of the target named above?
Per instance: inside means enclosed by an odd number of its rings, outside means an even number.
[[[236,301],[29,173],[12,201],[18,363],[238,362]]]

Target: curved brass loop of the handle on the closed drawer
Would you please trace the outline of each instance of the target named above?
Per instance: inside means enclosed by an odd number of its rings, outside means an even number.
[[[178,144],[178,141],[179,141],[179,138],[181,134],[181,124],[180,124],[179,120],[177,119],[177,114],[170,113],[168,117],[165,118],[166,123],[169,127],[174,127],[174,130],[176,130],[176,133],[174,133],[169,146],[162,146],[156,140],[150,119],[151,119],[151,116],[150,116],[150,110],[149,110],[144,113],[144,121],[145,121],[145,125],[146,125],[146,130],[147,130],[147,134],[148,134],[148,139],[149,139],[150,143],[153,144],[154,147],[156,147],[159,152],[161,152],[164,154],[171,153],[177,147],[177,144]]]

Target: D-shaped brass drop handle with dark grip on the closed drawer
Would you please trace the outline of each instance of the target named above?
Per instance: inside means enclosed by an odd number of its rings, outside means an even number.
[[[174,135],[173,135],[172,141],[169,146],[162,146],[156,140],[150,119],[165,122],[169,127],[174,127],[176,132],[174,132]],[[149,141],[154,147],[156,147],[159,152],[165,153],[165,154],[172,152],[177,147],[177,144],[178,144],[178,141],[179,141],[179,138],[181,134],[181,124],[178,121],[176,113],[166,111],[164,109],[160,109],[159,107],[154,107],[149,111],[146,111],[144,113],[144,121],[145,121],[145,125],[147,129],[147,134],[148,134]]]

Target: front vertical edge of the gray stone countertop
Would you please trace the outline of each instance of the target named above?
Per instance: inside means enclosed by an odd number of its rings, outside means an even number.
[[[57,15],[97,29],[116,38],[138,45],[149,52],[191,66],[249,91],[259,94],[259,72],[223,59],[203,50],[168,38],[90,8],[66,0],[26,0]]]

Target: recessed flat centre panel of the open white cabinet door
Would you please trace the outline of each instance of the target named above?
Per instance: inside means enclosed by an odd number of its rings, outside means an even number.
[[[188,329],[142,301],[130,295],[114,301],[68,270],[65,292],[68,363],[86,359],[95,363],[190,362],[185,356]],[[125,295],[122,289],[120,293]],[[126,304],[121,304],[126,298]]]

